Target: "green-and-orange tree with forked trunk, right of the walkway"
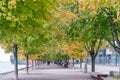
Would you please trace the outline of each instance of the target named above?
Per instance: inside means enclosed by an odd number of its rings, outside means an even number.
[[[103,37],[98,36],[100,33],[94,29],[93,25],[97,10],[95,6],[98,3],[90,0],[64,4],[66,11],[68,10],[77,16],[77,18],[67,21],[68,27],[65,30],[67,38],[68,40],[82,42],[92,58],[92,72],[95,71],[95,57],[98,54],[103,39]]]

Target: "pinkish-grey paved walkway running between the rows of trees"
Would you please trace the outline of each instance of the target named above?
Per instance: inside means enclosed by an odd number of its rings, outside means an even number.
[[[6,75],[7,76],[7,75]],[[9,75],[2,80],[14,80],[14,75]],[[39,68],[30,69],[29,75],[25,70],[19,72],[19,80],[92,80],[89,75],[68,68],[61,68],[54,64],[40,65]]]

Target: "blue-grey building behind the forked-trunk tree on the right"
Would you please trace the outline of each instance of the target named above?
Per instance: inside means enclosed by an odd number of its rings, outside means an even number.
[[[120,55],[113,48],[102,49],[95,61],[96,64],[117,66],[120,65]],[[91,63],[91,58],[88,59],[88,63]]]

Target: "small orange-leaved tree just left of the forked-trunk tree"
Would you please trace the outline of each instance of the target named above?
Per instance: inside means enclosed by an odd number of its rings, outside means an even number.
[[[71,59],[73,59],[73,67],[74,60],[80,60],[80,68],[82,68],[82,61],[85,55],[85,49],[77,41],[64,42],[64,54],[67,54]]]

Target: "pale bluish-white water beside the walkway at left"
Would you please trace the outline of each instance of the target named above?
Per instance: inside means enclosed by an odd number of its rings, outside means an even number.
[[[18,65],[18,69],[25,68],[25,65]],[[14,71],[14,64],[10,62],[0,61],[0,74]]]

